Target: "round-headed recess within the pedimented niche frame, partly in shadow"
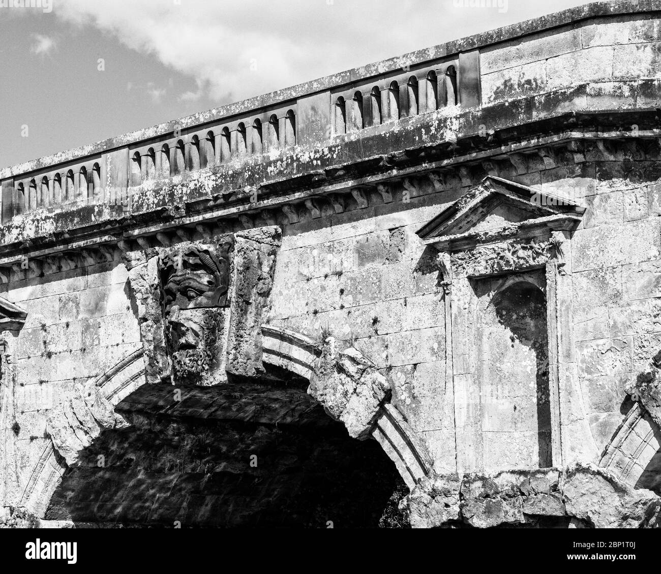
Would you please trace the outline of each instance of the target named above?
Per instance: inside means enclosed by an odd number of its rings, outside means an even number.
[[[475,359],[480,402],[475,412],[484,452],[498,453],[497,460],[485,456],[487,471],[508,464],[553,466],[547,302],[545,289],[533,276],[512,275],[502,281],[486,298],[479,322]],[[486,289],[492,279],[477,281],[479,289]],[[519,445],[516,454],[503,451],[508,436]]]

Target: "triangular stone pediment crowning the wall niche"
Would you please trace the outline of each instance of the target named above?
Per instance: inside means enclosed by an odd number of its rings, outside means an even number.
[[[569,227],[576,227],[584,211],[584,207],[563,197],[487,176],[416,233],[430,243],[437,238],[469,236],[512,225],[529,227],[535,222],[566,221]]]

